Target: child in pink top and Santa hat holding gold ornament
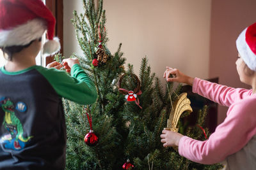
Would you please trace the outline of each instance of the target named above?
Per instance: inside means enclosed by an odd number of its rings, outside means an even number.
[[[237,73],[251,90],[234,89],[209,81],[191,78],[178,69],[166,67],[164,78],[193,86],[193,92],[223,106],[227,117],[206,141],[198,141],[177,132],[163,130],[163,146],[179,146],[179,154],[201,164],[227,160],[227,169],[256,168],[256,23],[250,25],[236,41]],[[170,75],[174,78],[169,78]]]

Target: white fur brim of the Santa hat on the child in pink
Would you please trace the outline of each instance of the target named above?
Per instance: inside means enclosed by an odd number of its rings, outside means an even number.
[[[242,59],[244,60],[245,64],[253,71],[256,71],[256,55],[252,52],[250,46],[248,46],[248,44],[246,43],[246,31],[247,28],[244,29],[244,31],[241,32],[241,34],[236,39],[236,48],[240,53]]]

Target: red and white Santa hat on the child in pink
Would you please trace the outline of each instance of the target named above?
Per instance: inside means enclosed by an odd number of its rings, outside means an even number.
[[[256,23],[241,32],[236,40],[236,47],[245,64],[256,71]]]

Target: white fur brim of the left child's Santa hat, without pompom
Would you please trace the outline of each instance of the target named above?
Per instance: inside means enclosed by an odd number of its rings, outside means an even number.
[[[0,46],[27,45],[32,40],[40,38],[46,29],[44,20],[29,20],[26,24],[0,31]]]

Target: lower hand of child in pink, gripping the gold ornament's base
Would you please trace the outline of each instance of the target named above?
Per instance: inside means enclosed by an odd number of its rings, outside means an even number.
[[[168,146],[179,146],[180,138],[182,138],[182,134],[177,132],[163,130],[161,134],[161,143],[164,143],[164,147]]]

